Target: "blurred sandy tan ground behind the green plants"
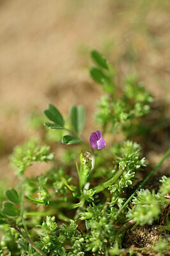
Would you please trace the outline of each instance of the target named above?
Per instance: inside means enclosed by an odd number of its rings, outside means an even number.
[[[169,0],[0,0],[0,24],[1,180],[13,180],[13,147],[46,129],[31,125],[38,116],[43,124],[49,103],[64,115],[82,104],[84,138],[96,129],[92,49],[113,63],[120,86],[136,73],[155,100],[170,100]]]

